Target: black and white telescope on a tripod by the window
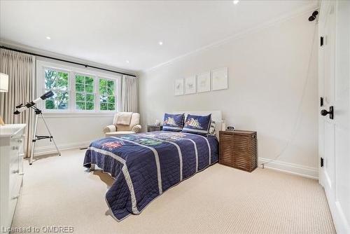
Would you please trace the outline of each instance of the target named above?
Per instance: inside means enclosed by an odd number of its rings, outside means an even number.
[[[38,102],[40,102],[40,100],[48,99],[49,97],[52,97],[53,95],[55,95],[55,94],[52,91],[45,92],[43,95],[41,95],[41,97],[38,97],[37,99],[34,99],[31,102],[27,102],[27,104],[25,104],[25,105],[19,104],[18,106],[16,106],[16,111],[13,112],[15,115],[18,115],[21,112],[23,112],[29,108],[33,109],[35,112],[34,133],[33,133],[33,137],[31,138],[31,153],[30,153],[29,165],[31,165],[33,163],[35,144],[38,140],[41,140],[41,139],[50,139],[50,142],[53,142],[53,144],[55,145],[55,148],[57,150],[58,155],[59,156],[61,155],[61,152],[59,152],[57,144],[52,137],[50,129],[48,128],[48,124],[45,121],[45,118],[43,116],[43,112],[41,111],[41,109],[38,109],[38,107],[35,106]],[[45,127],[48,130],[48,135],[36,135],[36,131],[38,130],[38,116],[41,116],[41,118],[43,118],[43,123],[45,124]]]

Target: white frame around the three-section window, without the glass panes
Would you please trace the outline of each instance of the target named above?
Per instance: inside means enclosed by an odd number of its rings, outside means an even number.
[[[68,81],[68,92],[69,92],[69,104],[68,109],[45,109],[45,101],[39,102],[37,104],[38,108],[43,111],[43,113],[57,114],[57,115],[69,115],[69,114],[87,114],[87,115],[98,115],[107,114],[113,115],[113,113],[118,112],[120,108],[120,98],[121,98],[121,79],[122,75],[112,75],[109,72],[94,71],[92,69],[83,69],[80,67],[70,66],[66,63],[54,63],[47,62],[43,60],[36,61],[36,97],[40,97],[45,92],[45,69],[51,69],[53,71],[67,72],[69,75]],[[94,78],[94,110],[78,110],[76,109],[76,74],[84,76],[92,76]],[[115,85],[115,110],[100,111],[99,106],[99,78],[104,78],[107,80],[113,80]]]

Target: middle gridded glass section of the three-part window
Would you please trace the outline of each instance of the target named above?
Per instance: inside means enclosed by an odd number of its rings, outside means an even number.
[[[76,109],[94,109],[94,77],[76,75]]]

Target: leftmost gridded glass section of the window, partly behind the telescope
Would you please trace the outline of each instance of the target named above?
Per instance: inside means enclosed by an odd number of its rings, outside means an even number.
[[[45,99],[45,109],[68,109],[69,74],[64,71],[45,69],[45,92],[52,91],[53,97]]]

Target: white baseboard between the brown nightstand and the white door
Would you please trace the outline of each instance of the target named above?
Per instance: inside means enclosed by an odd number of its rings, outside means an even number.
[[[259,158],[259,165],[262,163],[267,163],[268,158]],[[304,165],[298,165],[294,163],[285,163],[279,160],[274,160],[265,165],[266,168],[272,170],[278,170],[280,172],[286,172],[290,174],[297,174],[301,177],[307,177],[311,179],[318,179],[318,168],[307,167]]]

